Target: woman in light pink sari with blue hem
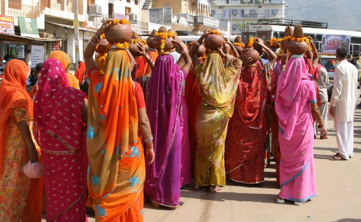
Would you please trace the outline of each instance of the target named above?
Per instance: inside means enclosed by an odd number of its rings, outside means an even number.
[[[287,53],[287,48],[284,51]],[[276,199],[278,203],[287,199],[294,201],[295,205],[302,205],[316,196],[313,117],[320,123],[323,135],[327,135],[327,130],[316,103],[315,86],[302,55],[292,55],[287,63],[288,56],[288,53],[282,54],[282,72],[278,77],[275,104],[282,153],[281,191]]]

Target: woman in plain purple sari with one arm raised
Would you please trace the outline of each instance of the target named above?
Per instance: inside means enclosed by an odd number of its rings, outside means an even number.
[[[173,42],[181,50],[177,64],[169,52],[159,55],[148,86],[146,110],[154,138],[154,162],[146,165],[145,193],[154,207],[175,208],[180,201],[182,153],[182,82],[191,66],[183,43]],[[189,147],[189,145],[188,145]],[[188,158],[189,159],[189,158]]]

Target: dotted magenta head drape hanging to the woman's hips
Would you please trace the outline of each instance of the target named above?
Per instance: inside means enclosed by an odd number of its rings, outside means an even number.
[[[74,152],[79,147],[82,123],[78,113],[82,110],[84,93],[69,87],[64,67],[56,59],[45,61],[38,86],[33,125],[36,142],[43,150]]]

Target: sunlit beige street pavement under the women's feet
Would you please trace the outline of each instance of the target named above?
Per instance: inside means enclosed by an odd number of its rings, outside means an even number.
[[[361,221],[361,111],[354,120],[354,155],[348,161],[328,158],[338,151],[333,121],[328,121],[328,139],[315,140],[317,197],[302,206],[276,203],[275,164],[266,169],[263,187],[234,185],[227,181],[219,193],[181,190],[185,205],[170,210],[144,206],[146,222],[228,221]],[[45,220],[44,220],[45,221]],[[89,215],[89,221],[95,221]],[[129,221],[131,222],[131,221]]]

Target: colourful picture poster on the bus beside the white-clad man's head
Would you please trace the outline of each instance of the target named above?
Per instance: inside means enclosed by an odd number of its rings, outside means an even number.
[[[324,55],[336,55],[336,49],[344,46],[349,51],[351,43],[350,35],[322,35],[322,51]]]

